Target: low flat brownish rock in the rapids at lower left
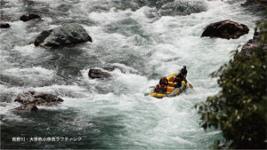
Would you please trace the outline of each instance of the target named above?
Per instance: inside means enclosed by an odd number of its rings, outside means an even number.
[[[53,105],[58,104],[64,100],[52,94],[45,94],[36,91],[23,91],[17,95],[17,98],[14,101],[20,102],[24,105]]]

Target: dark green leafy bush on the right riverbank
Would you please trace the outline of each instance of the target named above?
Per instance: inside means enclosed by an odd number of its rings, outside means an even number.
[[[257,23],[266,42],[266,20]],[[233,51],[234,57],[212,76],[219,77],[222,90],[206,102],[197,104],[202,127],[221,129],[226,142],[213,147],[233,149],[267,148],[267,56],[263,47],[253,50],[250,57]]]

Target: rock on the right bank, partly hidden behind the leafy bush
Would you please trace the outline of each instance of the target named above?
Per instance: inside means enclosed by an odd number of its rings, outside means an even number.
[[[246,56],[250,56],[252,51],[257,49],[257,48],[261,48],[263,47],[263,50],[267,50],[267,44],[266,43],[260,43],[259,39],[260,38],[260,33],[259,32],[255,32],[253,39],[250,39],[247,41],[247,43],[245,43],[242,46],[241,51],[246,55]]]

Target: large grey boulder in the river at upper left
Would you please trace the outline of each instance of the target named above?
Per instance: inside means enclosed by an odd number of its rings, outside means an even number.
[[[50,30],[44,30],[36,37],[35,46],[57,48],[61,46],[75,45],[77,43],[92,42],[82,26],[73,23]]]

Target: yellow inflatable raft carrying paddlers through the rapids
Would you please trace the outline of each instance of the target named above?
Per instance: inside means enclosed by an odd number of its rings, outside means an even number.
[[[182,81],[182,86],[180,88],[174,88],[174,85],[176,85],[176,83],[173,83],[173,78],[174,76],[178,75],[178,73],[175,73],[173,75],[169,75],[166,77],[166,79],[168,80],[168,85],[167,85],[167,89],[166,89],[166,93],[157,93],[154,91],[154,89],[150,92],[150,95],[152,97],[161,99],[164,97],[175,97],[179,94],[182,93],[182,91],[185,91],[187,88],[187,82],[186,81]]]

